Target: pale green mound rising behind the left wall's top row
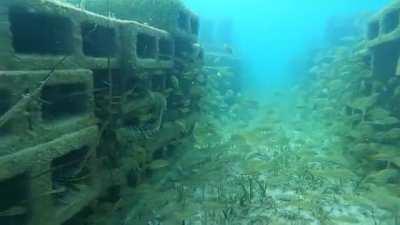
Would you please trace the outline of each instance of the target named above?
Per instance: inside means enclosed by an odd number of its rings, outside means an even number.
[[[66,2],[77,4],[73,0]],[[196,47],[199,17],[180,0],[86,0],[80,6],[103,15],[112,10],[113,16],[118,19],[134,20],[167,31],[175,42],[175,55],[178,58],[190,58],[201,52],[201,47]]]

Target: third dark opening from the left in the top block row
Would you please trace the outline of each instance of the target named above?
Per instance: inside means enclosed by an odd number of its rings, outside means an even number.
[[[156,58],[157,40],[148,34],[138,34],[136,52],[139,58]]]

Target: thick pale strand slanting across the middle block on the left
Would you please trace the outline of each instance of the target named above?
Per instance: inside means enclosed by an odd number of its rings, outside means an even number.
[[[21,112],[26,105],[28,105],[32,99],[35,99],[40,92],[42,91],[43,87],[49,82],[49,80],[53,77],[54,72],[56,71],[57,67],[64,63],[64,61],[68,58],[68,55],[64,56],[60,61],[58,61],[50,72],[46,75],[46,77],[39,82],[39,86],[33,90],[31,93],[27,93],[22,95],[22,98],[13,105],[7,112],[5,112],[0,117],[0,127],[4,126],[8,121],[10,121],[18,112]]]

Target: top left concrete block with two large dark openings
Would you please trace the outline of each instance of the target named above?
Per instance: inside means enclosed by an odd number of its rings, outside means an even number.
[[[0,2],[0,69],[119,67],[120,22],[52,0]]]

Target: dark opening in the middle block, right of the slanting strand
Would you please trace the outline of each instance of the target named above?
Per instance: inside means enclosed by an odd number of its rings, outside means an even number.
[[[83,83],[47,85],[42,89],[43,120],[65,119],[87,112],[89,90]]]

